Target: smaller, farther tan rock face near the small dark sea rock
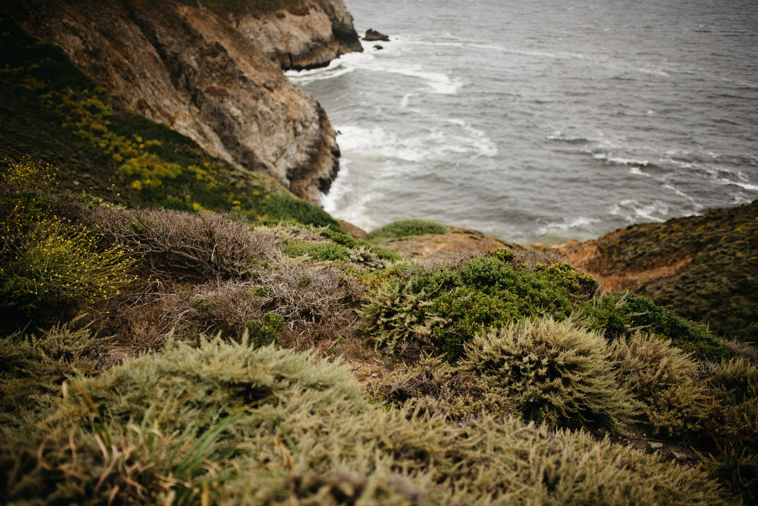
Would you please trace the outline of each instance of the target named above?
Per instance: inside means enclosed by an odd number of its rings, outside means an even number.
[[[283,70],[324,67],[340,55],[363,51],[343,0],[311,0],[280,11],[232,15],[230,22]]]

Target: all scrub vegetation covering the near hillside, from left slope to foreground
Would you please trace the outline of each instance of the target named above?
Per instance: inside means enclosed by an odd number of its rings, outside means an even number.
[[[550,253],[403,262],[446,227],[356,239],[0,19],[5,503],[758,499],[736,334]]]

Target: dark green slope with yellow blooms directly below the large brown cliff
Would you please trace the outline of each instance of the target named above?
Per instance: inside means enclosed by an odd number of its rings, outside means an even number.
[[[58,188],[122,205],[240,211],[255,220],[339,223],[266,176],[236,170],[192,139],[124,108],[55,45],[0,14],[0,158],[58,168]],[[77,184],[78,183],[78,184]]]

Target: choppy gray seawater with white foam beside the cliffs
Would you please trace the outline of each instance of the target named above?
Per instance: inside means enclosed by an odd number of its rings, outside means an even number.
[[[562,242],[758,198],[754,0],[346,3],[390,42],[287,73],[340,131],[336,217]]]

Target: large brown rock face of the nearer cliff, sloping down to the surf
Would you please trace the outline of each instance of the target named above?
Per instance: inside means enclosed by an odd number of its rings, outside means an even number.
[[[211,154],[272,176],[317,205],[337,176],[339,148],[318,102],[207,8],[31,0],[17,9],[27,32],[60,45],[127,108],[170,124]]]

